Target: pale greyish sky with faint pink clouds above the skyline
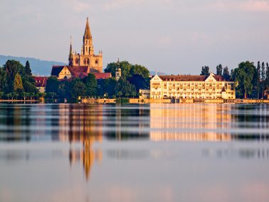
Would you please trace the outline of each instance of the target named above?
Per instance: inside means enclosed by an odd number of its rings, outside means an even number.
[[[167,74],[269,63],[269,0],[0,0],[0,54],[68,63],[86,18],[95,53]]]

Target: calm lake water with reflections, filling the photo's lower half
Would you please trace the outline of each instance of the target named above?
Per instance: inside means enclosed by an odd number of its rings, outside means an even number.
[[[0,105],[0,201],[269,201],[269,105]]]

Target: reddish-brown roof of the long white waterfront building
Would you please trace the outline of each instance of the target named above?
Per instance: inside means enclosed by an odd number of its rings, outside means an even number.
[[[205,75],[159,75],[164,81],[205,81],[209,76]],[[217,81],[224,81],[221,75],[213,75]]]

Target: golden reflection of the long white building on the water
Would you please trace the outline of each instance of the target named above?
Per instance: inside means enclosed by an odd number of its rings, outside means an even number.
[[[168,107],[167,107],[168,106]],[[231,134],[211,130],[231,127],[231,105],[150,105],[153,141],[230,141]]]

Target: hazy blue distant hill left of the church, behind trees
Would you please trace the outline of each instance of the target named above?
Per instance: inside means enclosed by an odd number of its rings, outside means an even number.
[[[65,63],[56,61],[0,55],[0,66],[3,66],[6,63],[6,60],[18,60],[22,65],[25,65],[26,61],[28,60],[33,75],[51,75],[52,65],[65,65]]]

